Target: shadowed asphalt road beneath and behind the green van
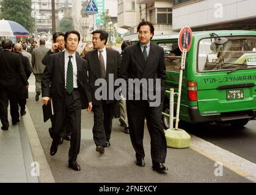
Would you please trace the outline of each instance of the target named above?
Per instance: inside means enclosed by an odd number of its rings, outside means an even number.
[[[256,121],[249,121],[244,127],[229,125],[183,124],[184,129],[203,140],[256,163]]]

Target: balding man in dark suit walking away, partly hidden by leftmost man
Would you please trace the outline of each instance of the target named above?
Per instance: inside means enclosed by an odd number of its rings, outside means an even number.
[[[20,55],[21,57],[21,61],[22,61],[22,65],[26,74],[26,78],[29,79],[30,75],[31,75],[31,69],[30,69],[30,65],[29,65],[29,59],[25,56],[22,55],[22,45],[19,43],[16,43],[14,45],[13,51]],[[26,87],[24,87],[22,85],[22,82],[19,82],[20,85],[20,90],[19,90],[19,105],[20,105],[20,115],[26,115],[26,104],[27,104],[27,98],[29,96],[29,92],[27,90]]]

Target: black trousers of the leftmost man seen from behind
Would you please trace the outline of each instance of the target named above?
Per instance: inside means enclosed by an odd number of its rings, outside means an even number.
[[[12,122],[17,122],[20,119],[18,107],[18,93],[9,90],[8,88],[0,88],[0,119],[3,127],[9,127],[8,121],[8,105],[10,101],[10,115]]]

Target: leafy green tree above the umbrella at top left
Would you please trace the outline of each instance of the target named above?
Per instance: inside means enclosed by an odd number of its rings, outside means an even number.
[[[34,31],[34,19],[31,16],[31,0],[2,0],[0,18],[15,21],[29,32]]]

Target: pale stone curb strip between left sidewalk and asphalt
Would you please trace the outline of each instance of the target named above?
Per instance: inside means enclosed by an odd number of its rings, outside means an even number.
[[[55,183],[53,173],[49,168],[48,161],[45,157],[45,152],[43,152],[43,147],[38,138],[37,131],[35,130],[35,126],[28,109],[26,109],[26,115],[22,116],[22,118],[27,132],[27,137],[29,138],[33,160],[37,161],[40,166],[40,175],[38,176],[38,181],[40,183]]]

